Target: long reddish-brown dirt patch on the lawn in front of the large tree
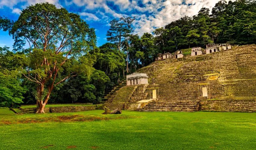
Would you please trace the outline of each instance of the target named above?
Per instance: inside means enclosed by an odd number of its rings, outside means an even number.
[[[127,119],[133,117],[127,116],[90,116],[90,115],[63,115],[63,116],[48,116],[48,117],[29,117],[29,118],[15,118],[10,120],[0,120],[0,125],[9,124],[23,124],[23,123],[44,123],[44,122],[90,122],[101,120],[116,120]]]

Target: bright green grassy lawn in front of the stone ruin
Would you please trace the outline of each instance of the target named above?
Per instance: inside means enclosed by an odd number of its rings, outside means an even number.
[[[256,147],[256,113],[103,112],[15,115],[0,108],[0,149]]]

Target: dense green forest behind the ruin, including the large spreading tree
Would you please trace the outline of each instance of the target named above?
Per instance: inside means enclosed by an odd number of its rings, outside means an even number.
[[[201,8],[141,37],[134,33],[136,18],[121,17],[110,22],[108,43],[99,47],[93,28],[53,4],[28,6],[16,21],[0,16],[0,29],[15,41],[13,48],[0,47],[0,107],[98,104],[159,53],[211,43],[255,44],[255,8],[256,1],[222,0],[211,12]]]

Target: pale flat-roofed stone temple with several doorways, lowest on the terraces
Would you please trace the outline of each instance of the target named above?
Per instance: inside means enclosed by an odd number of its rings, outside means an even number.
[[[126,85],[148,84],[146,73],[133,73],[126,76]]]

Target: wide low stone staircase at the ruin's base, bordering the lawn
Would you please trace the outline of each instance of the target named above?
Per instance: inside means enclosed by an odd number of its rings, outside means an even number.
[[[172,111],[172,112],[195,112],[199,109],[199,101],[151,101],[141,110],[144,112],[152,111]]]

